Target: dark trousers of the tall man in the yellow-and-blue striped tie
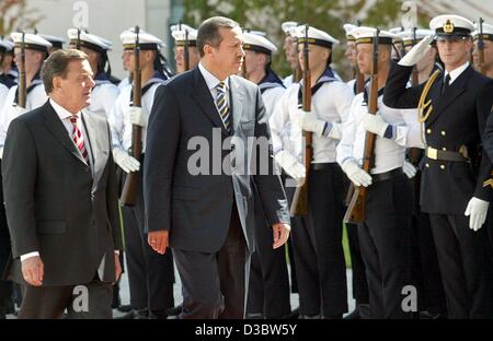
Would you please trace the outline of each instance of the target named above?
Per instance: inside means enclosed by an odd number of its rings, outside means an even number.
[[[183,319],[241,319],[246,301],[250,254],[233,204],[225,244],[217,252],[173,249],[182,280]]]

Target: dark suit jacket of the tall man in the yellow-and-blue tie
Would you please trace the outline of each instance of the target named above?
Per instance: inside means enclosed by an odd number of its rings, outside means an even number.
[[[268,223],[289,222],[280,178],[272,173],[270,143],[264,161],[271,172],[251,176],[250,170],[243,170],[252,169],[256,160],[255,145],[248,144],[248,139],[268,141],[271,134],[259,87],[242,78],[230,77],[229,103],[232,136],[223,128],[198,68],[175,77],[156,92],[144,166],[146,226],[148,231],[169,230],[170,245],[174,248],[218,251],[236,202],[249,249],[253,250],[251,181],[257,186]],[[228,142],[228,138],[232,141]],[[222,143],[226,150],[221,151]],[[230,146],[234,156],[228,160]],[[199,154],[204,157],[197,162]],[[222,161],[232,165],[232,175],[222,172]],[[196,166],[202,174],[190,172],[190,167]]]

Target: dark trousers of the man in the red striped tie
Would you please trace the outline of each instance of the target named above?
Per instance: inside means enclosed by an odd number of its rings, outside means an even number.
[[[20,319],[57,319],[65,309],[73,319],[111,319],[113,290],[95,279],[76,286],[25,285]]]

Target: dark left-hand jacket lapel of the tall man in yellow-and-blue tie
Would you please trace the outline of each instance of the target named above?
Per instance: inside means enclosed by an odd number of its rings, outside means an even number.
[[[202,111],[213,122],[213,125],[217,128],[220,128],[222,133],[228,136],[229,133],[226,131],[225,125],[222,125],[222,120],[216,108],[214,98],[198,67],[194,70],[194,89],[192,92],[192,96],[196,101]]]

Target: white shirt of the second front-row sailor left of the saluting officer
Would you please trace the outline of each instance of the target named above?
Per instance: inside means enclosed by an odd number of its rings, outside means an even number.
[[[280,150],[290,152],[302,163],[302,132],[295,124],[298,111],[299,83],[289,86],[274,107],[270,119],[274,154]],[[312,163],[333,163],[335,148],[347,125],[351,103],[354,95],[347,84],[339,81],[324,83],[311,97],[311,110],[320,120],[330,122],[328,137],[313,134]],[[287,139],[286,136],[289,136]]]

